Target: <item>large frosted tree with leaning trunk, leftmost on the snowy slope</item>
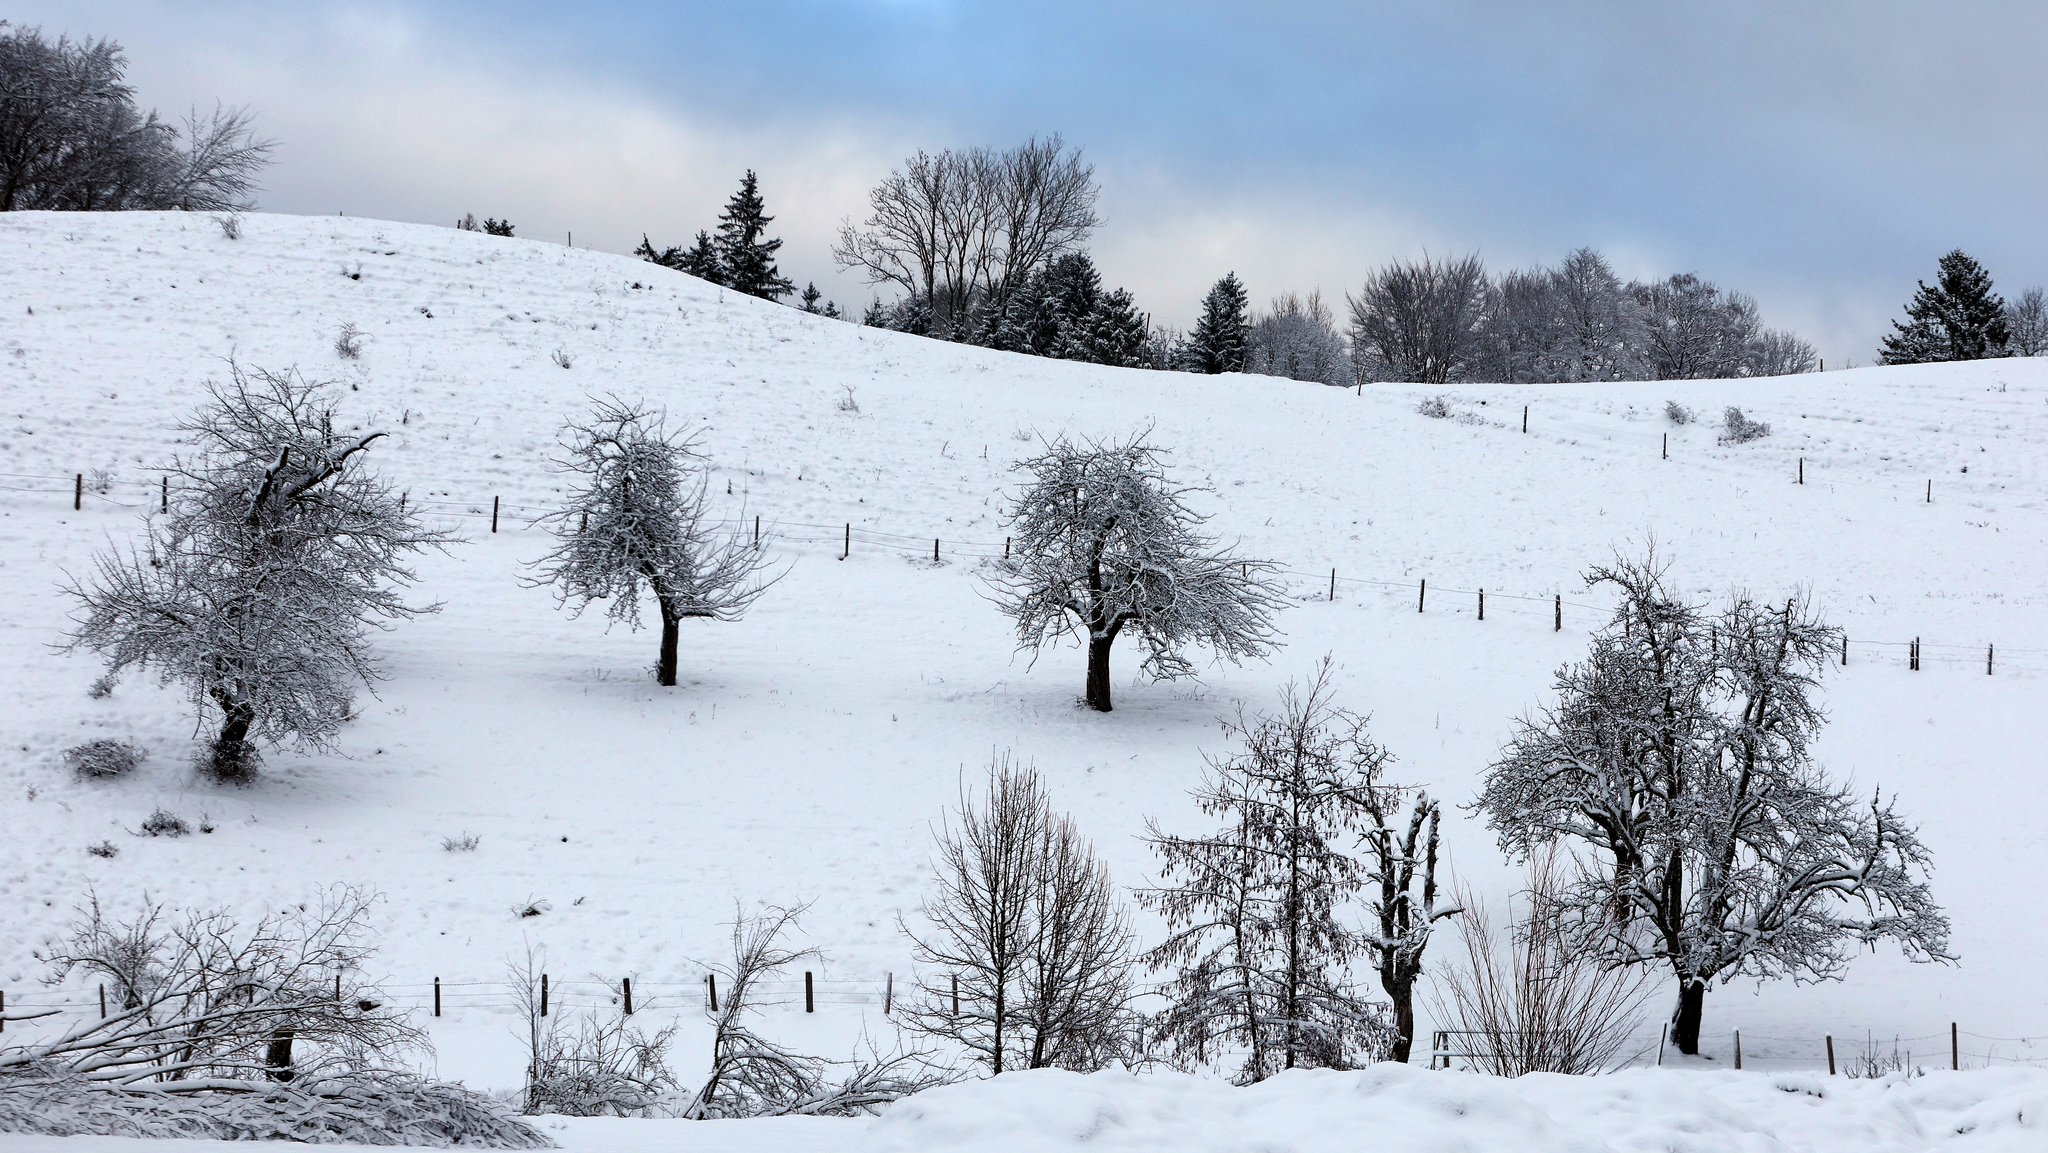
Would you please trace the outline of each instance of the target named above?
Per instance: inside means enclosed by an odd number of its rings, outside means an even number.
[[[246,780],[256,739],[324,748],[354,715],[379,678],[373,627],[432,612],[401,598],[406,557],[449,535],[369,471],[383,432],[336,428],[328,385],[229,362],[209,395],[180,426],[168,514],[68,586],[72,647],[184,684],[219,723],[207,770]]]

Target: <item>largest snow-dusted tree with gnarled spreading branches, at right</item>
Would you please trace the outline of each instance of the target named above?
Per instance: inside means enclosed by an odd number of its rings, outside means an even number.
[[[1585,948],[1677,979],[1671,1040],[1700,1051],[1714,981],[1839,977],[1847,944],[1948,960],[1927,850],[1892,803],[1812,762],[1815,694],[1841,635],[1802,596],[1675,596],[1655,553],[1591,571],[1620,594],[1556,702],[1524,719],[1479,809],[1501,848],[1589,862],[1556,901]]]

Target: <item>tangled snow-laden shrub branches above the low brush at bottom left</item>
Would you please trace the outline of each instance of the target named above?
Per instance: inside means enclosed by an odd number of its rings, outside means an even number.
[[[166,915],[147,899],[135,920],[109,922],[90,899],[41,958],[51,983],[106,979],[119,1008],[0,1051],[0,1077],[176,1094],[393,1073],[424,1036],[365,983],[371,903],[342,887],[244,926],[219,911]]]

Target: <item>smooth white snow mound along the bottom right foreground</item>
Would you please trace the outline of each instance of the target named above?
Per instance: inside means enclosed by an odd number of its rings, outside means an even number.
[[[1235,1090],[1180,1073],[1030,1071],[891,1108],[866,1149],[1516,1153],[2048,1149],[2048,1073],[1991,1069],[1851,1081],[1810,1073],[1530,1075],[1374,1065]]]

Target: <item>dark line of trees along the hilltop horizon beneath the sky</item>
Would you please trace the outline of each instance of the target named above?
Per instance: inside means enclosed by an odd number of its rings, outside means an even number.
[[[143,111],[109,39],[47,39],[0,20],[0,211],[254,205],[274,141],[246,109],[193,113],[184,127]],[[1096,170],[1059,135],[1018,147],[918,152],[868,190],[868,215],[840,227],[834,262],[877,289],[862,322],[1063,360],[1362,381],[1640,381],[1769,377],[1819,367],[1815,348],[1769,328],[1757,301],[1696,274],[1622,281],[1593,248],[1554,266],[1489,270],[1477,256],[1395,260],[1346,293],[1280,293],[1255,311],[1221,276],[1188,332],[1153,324],[1130,291],[1106,287],[1087,242],[1100,227]],[[817,285],[776,264],[780,240],[750,170],[715,229],[637,256],[739,293],[838,317]],[[465,217],[467,227],[477,227]],[[508,221],[481,231],[510,236]],[[889,299],[883,297],[889,295]],[[2048,352],[2048,301],[2013,301],[1964,252],[1919,285],[1878,358],[1886,365]]]

